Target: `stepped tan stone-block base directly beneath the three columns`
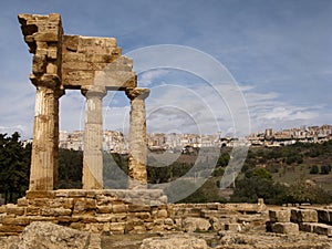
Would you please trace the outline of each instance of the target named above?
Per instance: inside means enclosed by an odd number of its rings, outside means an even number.
[[[162,190],[53,190],[28,191],[17,205],[0,207],[0,236],[20,234],[33,221],[91,232],[146,232],[173,229]]]

